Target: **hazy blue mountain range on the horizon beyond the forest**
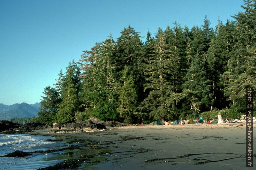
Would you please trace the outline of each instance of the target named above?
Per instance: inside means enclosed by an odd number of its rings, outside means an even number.
[[[8,120],[11,118],[23,118],[37,116],[39,112],[40,103],[27,104],[16,103],[13,105],[5,105],[0,103],[0,120]]]

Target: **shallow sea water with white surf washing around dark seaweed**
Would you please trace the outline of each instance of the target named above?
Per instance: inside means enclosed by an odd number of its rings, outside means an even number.
[[[52,139],[52,141],[46,141],[46,139]],[[86,144],[91,144],[91,141],[84,140],[82,142],[76,142],[75,138],[67,138],[65,135],[51,137],[31,134],[0,134],[0,156],[12,153],[15,150],[23,152],[56,150],[55,152],[48,153],[33,153],[25,157],[0,157],[0,170],[36,170],[54,166],[67,159],[77,159],[81,155],[95,155],[108,151],[106,149],[92,149],[91,147],[87,147]],[[68,148],[70,145],[77,145],[78,147],[60,150]],[[73,154],[67,154],[68,152],[72,152]],[[92,158],[93,161],[100,161],[102,159],[102,157]],[[87,166],[90,165],[83,163],[81,167],[75,169],[84,169],[85,166],[88,169]]]

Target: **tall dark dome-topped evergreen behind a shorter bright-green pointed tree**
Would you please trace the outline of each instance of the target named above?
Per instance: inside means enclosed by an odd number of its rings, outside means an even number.
[[[133,91],[134,94],[132,95],[138,96],[138,101],[133,103],[133,108],[136,108],[138,103],[144,99],[143,84],[145,81],[145,70],[143,62],[146,60],[145,50],[143,49],[139,33],[130,25],[128,28],[124,28],[121,32],[121,36],[117,39],[116,48],[116,65],[119,74],[118,82],[121,83],[120,86],[123,86],[121,78],[123,77],[123,69],[127,66],[129,73],[133,78],[133,83],[136,86],[134,87],[136,91]],[[119,94],[121,93],[122,92],[119,92]],[[119,103],[119,108],[123,107],[120,104],[121,103]]]

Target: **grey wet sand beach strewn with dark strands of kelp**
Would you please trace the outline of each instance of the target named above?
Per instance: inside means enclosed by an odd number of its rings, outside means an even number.
[[[90,140],[108,149],[98,154],[103,161],[75,169],[252,169],[246,167],[246,125],[237,125],[132,126],[50,135]],[[34,133],[49,135],[45,130]]]

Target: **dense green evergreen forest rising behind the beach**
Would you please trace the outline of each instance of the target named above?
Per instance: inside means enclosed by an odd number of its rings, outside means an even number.
[[[127,123],[238,117],[245,87],[256,89],[256,8],[245,1],[235,21],[215,29],[174,22],[153,37],[130,25],[120,37],[96,43],[46,87],[34,121],[67,123],[96,117]],[[255,102],[254,102],[255,104]],[[215,108],[215,110],[213,109]],[[256,113],[256,112],[254,112]]]

